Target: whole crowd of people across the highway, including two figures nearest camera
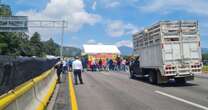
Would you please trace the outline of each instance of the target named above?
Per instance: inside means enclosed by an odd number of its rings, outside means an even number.
[[[72,71],[74,75],[74,83],[78,84],[79,78],[80,84],[83,84],[82,72],[86,70],[91,71],[129,71],[129,66],[132,60],[128,58],[117,57],[116,59],[97,59],[88,61],[86,58],[75,57],[71,59],[65,59],[60,61],[56,66],[56,72],[58,76],[58,82],[60,83],[61,74],[66,74],[68,71]]]

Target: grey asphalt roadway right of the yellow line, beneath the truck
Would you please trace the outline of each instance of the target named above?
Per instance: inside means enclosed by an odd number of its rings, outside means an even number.
[[[124,72],[86,72],[75,86],[79,110],[208,110],[208,79],[152,85]]]

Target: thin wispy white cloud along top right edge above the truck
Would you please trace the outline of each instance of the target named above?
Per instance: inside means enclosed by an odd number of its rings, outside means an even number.
[[[208,15],[207,0],[152,0],[140,7],[145,12],[171,12],[173,10],[183,10],[188,13]]]

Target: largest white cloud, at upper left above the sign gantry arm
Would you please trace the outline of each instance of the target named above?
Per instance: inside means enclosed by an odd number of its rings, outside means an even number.
[[[41,11],[19,11],[16,15],[29,16],[30,20],[64,19],[68,21],[68,31],[72,32],[79,31],[83,25],[94,25],[101,20],[101,16],[85,11],[83,0],[50,0]]]

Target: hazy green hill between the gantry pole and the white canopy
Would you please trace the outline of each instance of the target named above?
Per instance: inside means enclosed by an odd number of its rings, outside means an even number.
[[[76,47],[63,47],[63,55],[67,57],[74,57],[81,55],[81,49]]]

